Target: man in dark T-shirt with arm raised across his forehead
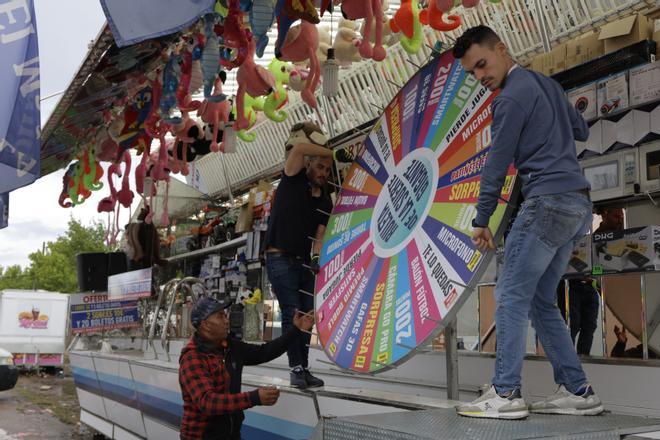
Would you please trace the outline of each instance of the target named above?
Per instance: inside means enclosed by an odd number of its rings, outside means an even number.
[[[295,310],[314,310],[314,274],[332,211],[326,182],[333,158],[353,160],[347,150],[333,151],[327,143],[318,125],[302,122],[291,128],[285,145],[284,172],[266,233],[266,269],[282,310],[283,332],[291,328]],[[287,350],[291,385],[298,388],[323,386],[323,381],[309,372],[309,341],[307,334]]]

